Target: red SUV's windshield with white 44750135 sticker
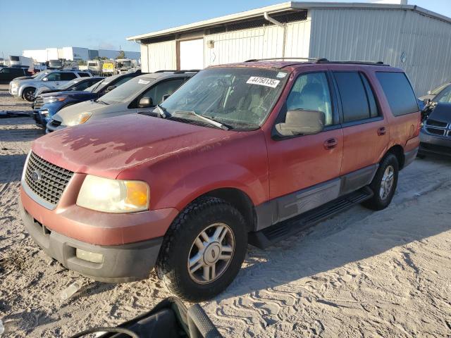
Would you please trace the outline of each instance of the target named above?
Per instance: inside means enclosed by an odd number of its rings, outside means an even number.
[[[168,113],[194,111],[218,122],[258,127],[276,103],[287,73],[264,68],[210,68],[161,104]]]

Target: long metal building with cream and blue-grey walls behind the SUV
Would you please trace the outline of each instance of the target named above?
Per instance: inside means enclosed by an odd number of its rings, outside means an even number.
[[[398,2],[286,2],[128,40],[141,44],[144,72],[283,56],[383,61],[425,94],[451,80],[451,18]]]

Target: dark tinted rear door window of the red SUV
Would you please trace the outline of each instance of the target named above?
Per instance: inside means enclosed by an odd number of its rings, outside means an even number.
[[[359,72],[333,72],[340,92],[343,122],[353,122],[378,115],[376,99],[368,80]]]

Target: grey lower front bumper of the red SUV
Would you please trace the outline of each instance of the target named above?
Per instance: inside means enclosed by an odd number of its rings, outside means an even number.
[[[19,210],[27,232],[42,250],[66,268],[99,282],[132,282],[149,277],[163,241],[163,237],[159,237],[115,246],[88,244],[49,230],[25,210],[22,201],[19,201]],[[101,253],[104,260],[102,263],[85,261],[75,255],[76,249]]]

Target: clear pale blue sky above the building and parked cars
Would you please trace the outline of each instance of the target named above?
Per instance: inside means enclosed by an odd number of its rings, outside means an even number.
[[[11,1],[2,0],[0,57],[22,55],[23,49],[63,46],[121,46],[126,51],[139,51],[137,44],[125,38],[281,2],[284,0],[22,0],[18,11]],[[450,3],[451,0],[409,0],[409,4],[448,17]],[[32,15],[27,15],[27,11],[32,11]]]

